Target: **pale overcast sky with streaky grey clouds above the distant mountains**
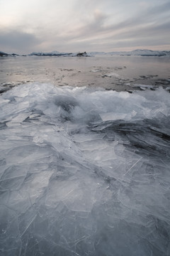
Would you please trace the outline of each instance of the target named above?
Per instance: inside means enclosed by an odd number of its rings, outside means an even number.
[[[170,50],[167,0],[0,0],[6,53]]]

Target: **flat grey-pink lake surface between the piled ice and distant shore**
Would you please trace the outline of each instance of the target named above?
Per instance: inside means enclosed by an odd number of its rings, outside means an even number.
[[[50,82],[117,91],[138,85],[166,87],[170,83],[169,62],[169,57],[141,56],[0,58],[0,86],[5,90],[25,82]]]

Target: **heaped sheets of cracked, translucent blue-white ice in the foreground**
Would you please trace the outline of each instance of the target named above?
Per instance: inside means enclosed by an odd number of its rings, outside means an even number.
[[[0,97],[1,255],[170,255],[168,92]]]

